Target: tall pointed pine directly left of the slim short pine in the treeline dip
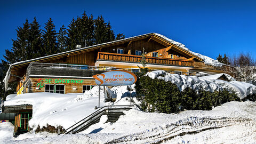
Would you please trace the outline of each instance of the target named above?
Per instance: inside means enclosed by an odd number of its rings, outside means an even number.
[[[43,54],[51,55],[58,53],[57,33],[51,18],[45,23],[45,30],[43,32]]]

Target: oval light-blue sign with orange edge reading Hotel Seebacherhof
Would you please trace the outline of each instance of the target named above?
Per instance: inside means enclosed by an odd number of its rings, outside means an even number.
[[[125,70],[111,70],[92,77],[100,86],[132,85],[137,81],[135,74]]]

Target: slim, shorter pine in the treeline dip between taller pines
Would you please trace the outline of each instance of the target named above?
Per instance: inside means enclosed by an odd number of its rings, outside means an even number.
[[[58,46],[59,51],[64,52],[67,49],[67,30],[64,25],[59,30],[58,36]]]

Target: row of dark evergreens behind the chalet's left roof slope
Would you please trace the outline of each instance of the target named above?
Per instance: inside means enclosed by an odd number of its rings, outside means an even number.
[[[16,92],[17,83],[9,84],[6,94],[3,90],[3,79],[12,63],[74,50],[76,45],[86,47],[125,38],[124,34],[115,35],[110,22],[106,22],[102,15],[94,18],[86,12],[59,30],[55,29],[53,19],[49,18],[40,26],[35,17],[31,22],[26,19],[16,31],[17,38],[12,39],[12,47],[5,47],[4,59],[0,63],[0,94],[3,99],[4,95]]]

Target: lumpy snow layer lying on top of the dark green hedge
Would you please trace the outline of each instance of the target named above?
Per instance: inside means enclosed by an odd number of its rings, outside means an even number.
[[[229,81],[223,81],[218,79],[222,75],[225,75]],[[163,70],[151,71],[146,74],[150,78],[163,79],[165,82],[172,82],[177,85],[181,91],[190,87],[194,90],[203,89],[206,91],[214,92],[227,89],[230,92],[235,92],[241,99],[245,98],[248,94],[256,93],[256,86],[245,82],[237,82],[235,78],[228,74],[216,74],[210,76],[196,77],[196,76],[185,76],[178,74],[166,73]]]

